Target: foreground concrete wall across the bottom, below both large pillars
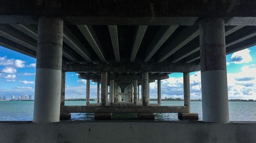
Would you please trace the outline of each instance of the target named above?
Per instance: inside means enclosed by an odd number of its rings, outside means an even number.
[[[0,123],[0,142],[256,142],[256,123]]]

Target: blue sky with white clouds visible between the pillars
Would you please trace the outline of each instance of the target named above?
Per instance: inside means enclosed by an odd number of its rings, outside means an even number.
[[[256,46],[231,53],[227,57],[228,98],[256,100]],[[35,87],[36,60],[0,46],[0,96],[32,95]],[[66,98],[85,98],[85,80],[76,73],[66,74]],[[97,84],[91,82],[91,98],[96,98]],[[190,73],[191,99],[201,99],[201,74]],[[157,98],[157,83],[150,84],[151,98]],[[162,80],[162,98],[183,98],[182,73]]]

